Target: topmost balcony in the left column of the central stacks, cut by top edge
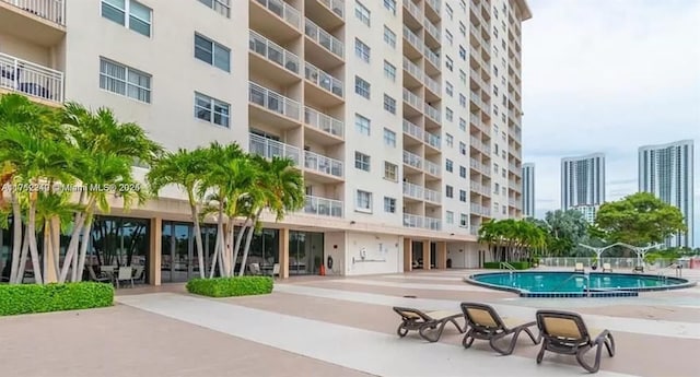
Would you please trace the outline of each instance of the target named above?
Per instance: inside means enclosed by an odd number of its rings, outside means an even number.
[[[301,13],[282,0],[250,1],[249,16],[250,28],[277,40],[290,40],[301,35]]]

